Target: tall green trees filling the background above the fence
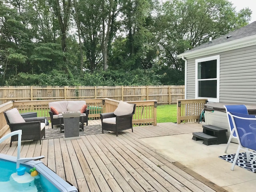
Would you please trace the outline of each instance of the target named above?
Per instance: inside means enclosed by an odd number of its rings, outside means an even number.
[[[248,24],[228,0],[4,0],[0,85],[178,85],[176,56]]]

